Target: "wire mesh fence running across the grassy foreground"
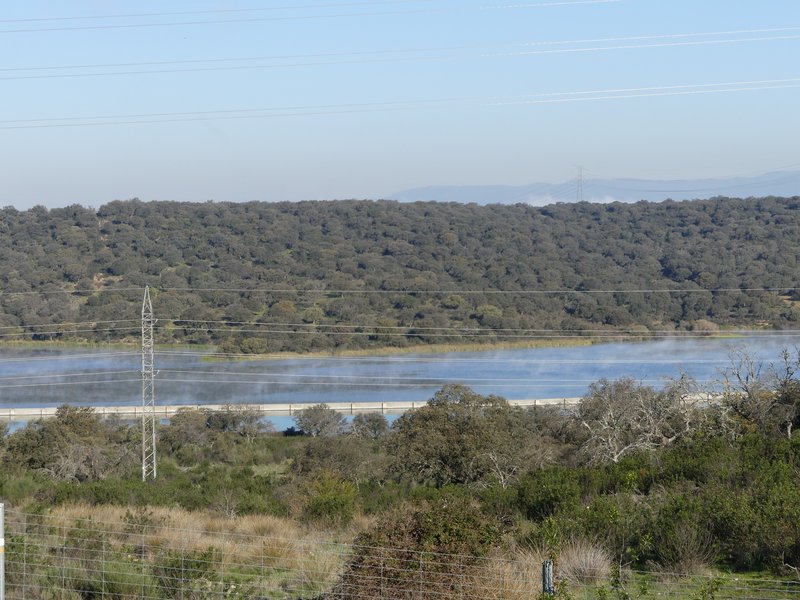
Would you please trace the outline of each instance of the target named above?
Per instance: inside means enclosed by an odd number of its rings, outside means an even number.
[[[171,528],[128,513],[119,523],[7,510],[5,598],[534,600],[542,562]],[[584,570],[559,581],[575,600],[800,599],[800,581]]]

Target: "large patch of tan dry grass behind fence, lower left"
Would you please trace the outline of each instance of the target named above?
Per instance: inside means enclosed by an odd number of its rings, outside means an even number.
[[[45,517],[50,527],[81,531],[87,540],[92,537],[88,532],[96,531],[121,552],[134,547],[155,561],[170,554],[200,557],[212,552],[220,570],[248,573],[259,589],[275,593],[318,593],[332,587],[348,556],[342,544],[352,541],[355,527],[371,521],[361,518],[346,531],[324,531],[266,515],[226,519],[178,508],[131,511],[86,504],[60,506]]]

